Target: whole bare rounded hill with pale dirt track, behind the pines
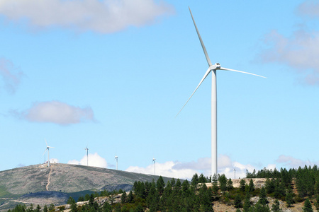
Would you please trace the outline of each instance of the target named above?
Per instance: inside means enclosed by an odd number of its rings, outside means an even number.
[[[87,193],[104,189],[130,190],[135,181],[152,182],[159,176],[84,165],[51,164],[30,165],[0,172],[0,210],[18,203],[65,204],[67,198],[77,199]],[[167,182],[169,178],[163,177]],[[42,200],[41,200],[42,199]]]

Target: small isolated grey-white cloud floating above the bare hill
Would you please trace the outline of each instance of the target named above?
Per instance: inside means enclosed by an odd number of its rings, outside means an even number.
[[[63,102],[35,102],[30,109],[23,112],[11,111],[16,117],[29,122],[50,122],[67,125],[94,121],[91,107],[74,107]]]

